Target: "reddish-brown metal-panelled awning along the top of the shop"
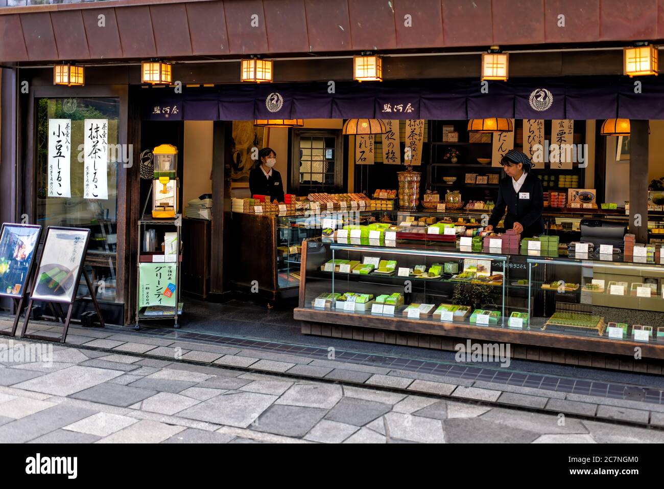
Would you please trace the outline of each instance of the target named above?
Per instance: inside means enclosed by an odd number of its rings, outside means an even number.
[[[110,0],[0,8],[5,63],[659,39],[664,0]]]

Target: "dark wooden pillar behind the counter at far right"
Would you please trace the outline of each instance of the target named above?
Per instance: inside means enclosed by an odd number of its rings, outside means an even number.
[[[630,120],[629,126],[629,232],[637,243],[647,243],[649,126],[647,120],[640,119]]]

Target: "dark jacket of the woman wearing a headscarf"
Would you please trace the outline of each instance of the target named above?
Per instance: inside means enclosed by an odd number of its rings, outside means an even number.
[[[505,229],[511,230],[515,222],[523,226],[522,238],[532,238],[544,233],[544,192],[542,182],[532,172],[527,173],[526,180],[519,192],[514,191],[513,178],[506,176],[498,187],[498,200],[493,208],[489,224],[495,228],[505,214]]]

